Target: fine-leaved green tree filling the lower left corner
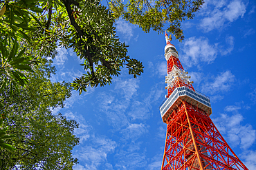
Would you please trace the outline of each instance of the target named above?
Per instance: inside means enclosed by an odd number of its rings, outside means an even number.
[[[77,123],[52,114],[53,108],[64,107],[71,86],[52,83],[49,76],[54,68],[47,63],[42,60],[33,68],[35,72],[26,74],[29,83],[19,92],[10,94],[8,85],[0,95],[5,103],[1,114],[8,113],[3,125],[16,136],[6,140],[15,151],[0,150],[1,169],[72,169],[77,163],[71,152],[79,143],[74,135]]]

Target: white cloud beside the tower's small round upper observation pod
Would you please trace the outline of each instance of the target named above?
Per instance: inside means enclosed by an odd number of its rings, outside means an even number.
[[[190,37],[182,43],[183,52],[181,61],[188,67],[198,65],[199,62],[211,63],[217,56],[217,44],[210,45],[209,40],[205,37]]]

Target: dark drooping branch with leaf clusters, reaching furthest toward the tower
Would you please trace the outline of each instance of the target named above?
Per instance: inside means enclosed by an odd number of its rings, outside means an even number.
[[[106,7],[92,0],[80,3],[67,0],[63,3],[73,25],[69,28],[69,47],[73,47],[77,56],[84,59],[82,66],[87,72],[72,84],[80,90],[80,94],[89,85],[97,87],[110,84],[112,76],[118,76],[123,65],[127,65],[131,70],[129,74],[133,74],[134,78],[143,72],[142,63],[127,56],[128,46],[120,43],[116,36],[113,14]]]

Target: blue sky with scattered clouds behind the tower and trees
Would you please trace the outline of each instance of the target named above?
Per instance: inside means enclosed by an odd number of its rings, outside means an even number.
[[[183,21],[185,40],[173,40],[194,88],[210,96],[210,116],[248,169],[256,169],[256,3],[206,1],[196,17]],[[165,99],[165,36],[145,34],[126,21],[116,22],[131,58],[145,66],[137,79],[124,68],[113,83],[89,88],[57,108],[80,128],[74,169],[161,169],[166,124],[159,105]],[[84,73],[72,50],[59,49],[53,81],[73,81]]]

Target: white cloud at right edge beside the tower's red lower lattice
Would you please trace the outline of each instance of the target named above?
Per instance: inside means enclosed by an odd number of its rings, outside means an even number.
[[[248,149],[256,139],[256,131],[249,124],[242,125],[244,119],[241,114],[221,114],[218,118],[214,118],[214,124],[222,135],[228,138],[228,142],[232,147],[239,146],[241,149]]]

